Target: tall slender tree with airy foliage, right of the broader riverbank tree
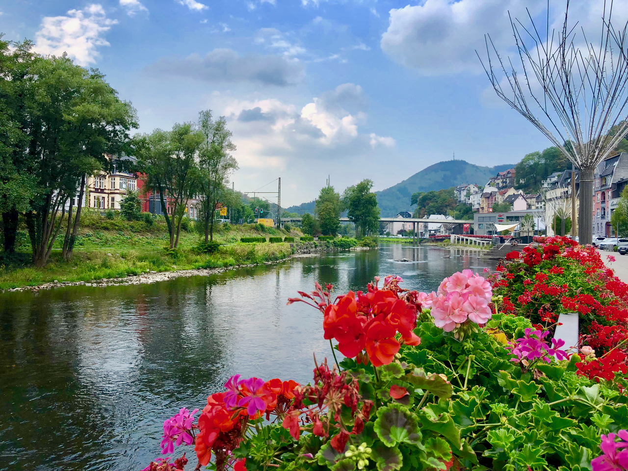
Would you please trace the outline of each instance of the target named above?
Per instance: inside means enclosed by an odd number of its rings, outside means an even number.
[[[201,111],[198,127],[205,137],[198,153],[198,191],[201,200],[200,214],[207,242],[214,240],[216,206],[224,197],[229,174],[237,170],[238,165],[230,154],[230,151],[236,150],[236,144],[231,142],[232,133],[227,129],[227,120],[224,116],[214,121],[211,110]]]

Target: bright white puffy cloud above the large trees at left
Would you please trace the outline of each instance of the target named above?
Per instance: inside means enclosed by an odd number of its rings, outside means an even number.
[[[45,16],[35,33],[35,50],[52,55],[66,52],[78,65],[86,66],[96,62],[99,46],[109,46],[103,35],[116,23],[100,4],[70,10],[67,16]]]

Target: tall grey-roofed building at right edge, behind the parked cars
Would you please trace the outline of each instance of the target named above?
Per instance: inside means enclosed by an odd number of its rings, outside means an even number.
[[[622,152],[602,161],[593,175],[593,234],[615,234],[610,216],[628,182],[628,153]]]

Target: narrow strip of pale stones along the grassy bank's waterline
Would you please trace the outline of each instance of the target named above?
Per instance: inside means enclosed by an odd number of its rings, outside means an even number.
[[[306,256],[311,255],[315,256],[318,254],[328,253],[328,252],[337,252],[337,247],[327,246],[324,243],[316,243],[316,242],[304,242],[303,244],[290,244],[290,248],[292,249],[292,255],[283,259],[279,259],[271,262],[264,262],[264,265],[272,265],[275,263],[280,263],[286,261],[293,257],[298,256]],[[351,251],[362,251],[369,250],[369,247],[352,247]],[[38,286],[21,286],[20,288],[13,288],[6,291],[39,291],[39,290],[50,290],[51,288],[61,288],[63,286],[99,286],[100,288],[104,288],[105,286],[123,286],[127,284],[143,284],[143,283],[157,283],[158,281],[168,281],[170,279],[179,278],[180,276],[209,276],[212,274],[222,273],[224,271],[234,269],[234,268],[246,268],[257,266],[260,264],[244,264],[244,265],[236,265],[224,268],[198,268],[191,270],[175,270],[175,271],[146,271],[146,273],[142,273],[139,275],[131,275],[126,276],[124,278],[104,278],[104,279],[95,279],[93,281],[52,281],[51,283],[44,283]],[[5,291],[5,290],[3,290]]]

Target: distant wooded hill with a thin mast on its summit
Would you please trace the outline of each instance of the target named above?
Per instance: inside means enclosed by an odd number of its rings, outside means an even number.
[[[393,187],[376,192],[382,217],[391,217],[400,211],[413,212],[410,197],[416,192],[430,192],[455,187],[463,183],[485,185],[497,172],[514,168],[515,164],[481,167],[464,160],[448,160],[430,165]]]

